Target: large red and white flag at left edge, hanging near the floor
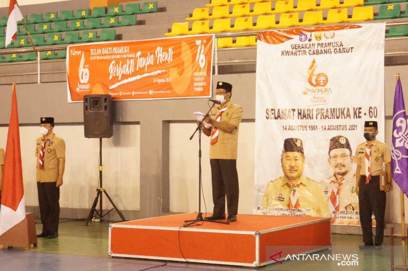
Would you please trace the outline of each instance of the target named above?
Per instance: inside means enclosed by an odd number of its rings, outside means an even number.
[[[13,84],[11,116],[4,159],[3,191],[0,207],[0,235],[25,218],[24,188],[22,183],[20,132],[17,112],[16,87]]]

